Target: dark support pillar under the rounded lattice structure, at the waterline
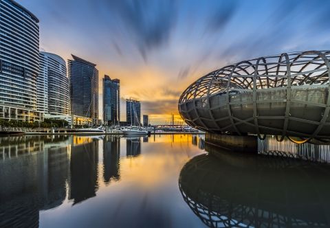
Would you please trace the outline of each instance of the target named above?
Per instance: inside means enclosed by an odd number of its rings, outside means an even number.
[[[237,152],[258,152],[258,140],[254,135],[205,134],[206,144]]]

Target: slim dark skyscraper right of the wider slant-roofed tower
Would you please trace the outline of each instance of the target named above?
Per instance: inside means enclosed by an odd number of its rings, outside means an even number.
[[[120,80],[103,78],[103,120],[107,124],[120,122]]]

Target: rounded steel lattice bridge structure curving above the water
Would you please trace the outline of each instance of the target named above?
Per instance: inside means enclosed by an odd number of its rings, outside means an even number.
[[[190,84],[179,113],[210,133],[329,138],[329,59],[330,51],[293,52],[223,67]]]

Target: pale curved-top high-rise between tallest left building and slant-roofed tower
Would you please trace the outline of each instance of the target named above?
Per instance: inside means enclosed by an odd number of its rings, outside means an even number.
[[[65,60],[60,56],[40,52],[37,78],[37,109],[50,115],[69,114],[69,78]]]

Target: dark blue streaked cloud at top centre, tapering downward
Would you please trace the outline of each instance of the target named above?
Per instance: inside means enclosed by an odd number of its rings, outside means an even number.
[[[107,1],[109,10],[131,36],[141,56],[147,60],[151,49],[168,43],[176,22],[177,8],[172,0]]]

